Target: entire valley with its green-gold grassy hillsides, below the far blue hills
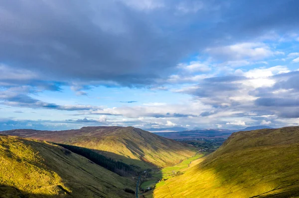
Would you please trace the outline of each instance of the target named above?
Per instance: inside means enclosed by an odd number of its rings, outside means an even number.
[[[0,134],[0,195],[299,196],[299,127],[176,141],[133,127]]]

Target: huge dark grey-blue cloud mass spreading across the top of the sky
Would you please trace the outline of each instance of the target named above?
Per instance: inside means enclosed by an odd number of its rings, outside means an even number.
[[[58,81],[144,86],[216,40],[223,45],[299,27],[296,0],[207,0],[183,13],[178,4],[194,1],[160,2],[145,10],[126,1],[1,1],[0,62]]]

